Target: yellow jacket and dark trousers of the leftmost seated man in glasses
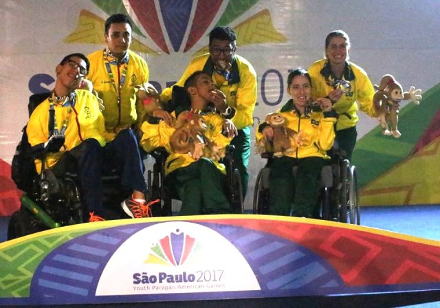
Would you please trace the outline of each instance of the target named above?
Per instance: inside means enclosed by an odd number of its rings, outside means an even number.
[[[64,135],[65,142],[60,151],[45,155],[45,166],[56,176],[65,175],[67,170],[77,173],[76,184],[87,221],[89,212],[101,217],[104,215],[100,178],[102,148],[105,146],[104,117],[96,96],[90,91],[75,90],[74,94],[58,104],[53,95],[41,102],[30,116],[26,133],[34,151],[43,150],[50,137],[49,120],[53,116],[50,109],[54,110],[53,133]],[[40,159],[36,159],[36,168],[40,173]]]

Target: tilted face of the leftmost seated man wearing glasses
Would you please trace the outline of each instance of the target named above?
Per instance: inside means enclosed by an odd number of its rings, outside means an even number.
[[[56,80],[68,91],[77,89],[87,72],[87,64],[82,58],[72,56],[65,63],[56,66]]]

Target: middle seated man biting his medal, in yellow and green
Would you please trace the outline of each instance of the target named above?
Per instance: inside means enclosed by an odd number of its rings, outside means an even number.
[[[201,71],[186,79],[184,89],[175,87],[174,91],[183,91],[179,101],[175,102],[175,111],[171,113],[177,122],[184,115],[188,121],[203,120],[199,124],[206,124],[206,128],[201,129],[201,135],[190,135],[188,140],[192,140],[192,150],[181,153],[177,150],[176,142],[173,142],[180,133],[179,128],[173,125],[175,120],[168,117],[168,111],[158,109],[155,111],[159,115],[157,118],[164,120],[158,124],[142,124],[144,135],[141,145],[147,152],[164,146],[169,153],[165,163],[165,180],[173,186],[182,201],[181,215],[230,213],[230,201],[223,190],[225,166],[219,164],[219,159],[236,135],[236,127],[231,120],[215,112],[211,103],[214,96],[221,95],[221,91],[217,90],[212,78]]]

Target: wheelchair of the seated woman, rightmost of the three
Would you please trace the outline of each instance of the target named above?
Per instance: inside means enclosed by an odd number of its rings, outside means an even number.
[[[333,153],[329,164],[321,170],[320,219],[360,225],[356,168],[339,151]],[[256,177],[253,213],[269,214],[269,173],[273,157],[271,153],[261,156],[267,163]],[[296,167],[292,172],[296,173]]]

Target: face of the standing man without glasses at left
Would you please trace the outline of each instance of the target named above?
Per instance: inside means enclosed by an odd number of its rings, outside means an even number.
[[[131,45],[131,27],[128,23],[111,23],[109,32],[105,34],[105,43],[111,54],[123,58]]]

